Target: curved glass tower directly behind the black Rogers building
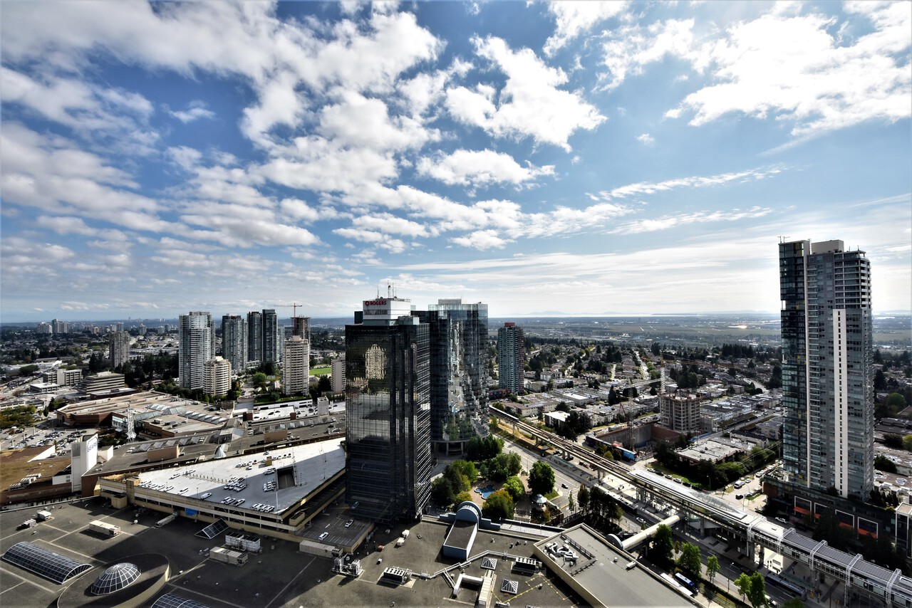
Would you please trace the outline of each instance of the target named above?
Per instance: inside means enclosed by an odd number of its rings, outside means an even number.
[[[430,441],[446,454],[488,435],[488,304],[441,299],[415,313],[430,328]]]

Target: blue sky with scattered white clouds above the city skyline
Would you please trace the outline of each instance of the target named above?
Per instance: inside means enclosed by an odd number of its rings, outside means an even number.
[[[912,309],[912,5],[0,5],[4,321]],[[288,309],[290,314],[291,309]]]

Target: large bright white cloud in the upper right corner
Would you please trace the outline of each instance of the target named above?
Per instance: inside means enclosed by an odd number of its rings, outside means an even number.
[[[912,5],[860,3],[874,31],[851,46],[824,15],[763,15],[740,23],[709,51],[717,84],[685,98],[669,117],[694,112],[700,126],[730,112],[793,122],[792,133],[844,129],[871,119],[908,119],[912,106]]]

